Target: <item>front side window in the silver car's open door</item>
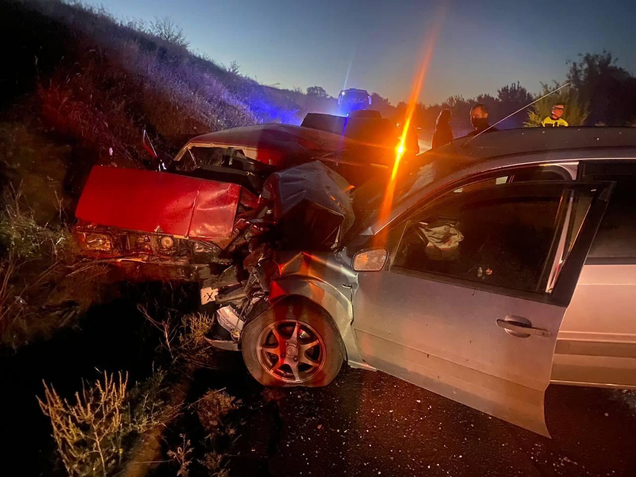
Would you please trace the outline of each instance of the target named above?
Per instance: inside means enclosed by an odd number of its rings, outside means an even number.
[[[561,182],[491,184],[453,191],[409,221],[393,266],[543,293],[590,200]]]

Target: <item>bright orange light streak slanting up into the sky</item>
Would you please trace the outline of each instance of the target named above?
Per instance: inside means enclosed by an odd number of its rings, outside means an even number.
[[[441,25],[444,20],[444,16],[446,13],[446,3],[446,1],[443,1],[439,5],[438,10],[436,11],[436,15],[434,16],[432,28],[429,30],[428,34],[424,38],[420,67],[418,68],[417,73],[415,74],[415,78],[413,78],[413,83],[411,84],[411,92],[409,94],[408,104],[406,105],[406,114],[404,116],[404,128],[395,149],[396,158],[393,163],[393,169],[391,170],[391,179],[389,180],[389,184],[387,184],[384,201],[382,202],[382,207],[380,208],[380,222],[385,222],[389,218],[389,214],[391,214],[393,195],[396,190],[397,171],[399,170],[401,160],[404,156],[404,153],[406,152],[406,139],[408,136],[408,131],[411,127],[411,121],[413,120],[415,109],[417,108],[417,100],[420,96],[422,84],[424,83],[424,78],[426,77],[426,73],[429,69],[429,64],[431,63],[431,58],[435,50],[435,44],[438,38],[439,30],[441,29]]]

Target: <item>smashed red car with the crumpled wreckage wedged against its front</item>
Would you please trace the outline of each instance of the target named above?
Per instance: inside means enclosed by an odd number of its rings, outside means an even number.
[[[301,126],[194,137],[167,170],[95,166],[74,237],[127,280],[198,282],[201,305],[216,313],[214,343],[237,349],[245,320],[268,306],[272,280],[294,260],[284,251],[337,249],[354,223],[350,191],[389,170],[398,139],[375,111],[308,114]]]

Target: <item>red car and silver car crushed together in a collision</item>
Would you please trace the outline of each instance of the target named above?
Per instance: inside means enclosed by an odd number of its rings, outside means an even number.
[[[546,436],[550,382],[636,387],[633,128],[459,138],[389,181],[396,135],[342,121],[204,135],[172,172],[95,167],[81,247],[199,282],[212,342],[263,385],[346,362]]]

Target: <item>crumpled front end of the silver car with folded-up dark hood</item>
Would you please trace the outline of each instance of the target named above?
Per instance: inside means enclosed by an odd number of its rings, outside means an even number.
[[[270,306],[272,284],[289,261],[286,251],[335,249],[354,221],[349,184],[319,162],[272,174],[261,197],[272,211],[268,240],[261,240],[240,265],[228,267],[218,279],[204,280],[201,287],[202,305],[219,307],[218,328],[235,343],[245,322]]]

